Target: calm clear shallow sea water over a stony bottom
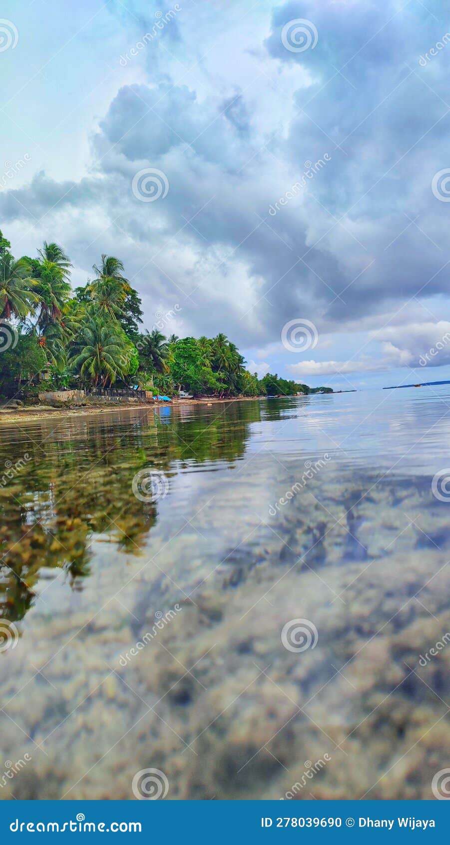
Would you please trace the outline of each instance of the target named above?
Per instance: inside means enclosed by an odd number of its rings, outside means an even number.
[[[450,385],[2,423],[0,798],[432,798],[449,447]]]

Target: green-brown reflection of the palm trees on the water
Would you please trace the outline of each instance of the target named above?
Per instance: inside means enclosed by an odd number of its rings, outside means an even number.
[[[135,498],[138,470],[155,466],[171,475],[180,461],[235,461],[243,455],[259,403],[236,403],[225,415],[219,408],[204,423],[200,409],[188,420],[173,409],[170,425],[155,420],[153,410],[139,411],[133,433],[125,435],[111,429],[111,422],[77,418],[64,428],[60,443],[50,436],[52,423],[42,421],[41,437],[35,428],[27,444],[26,468],[0,487],[0,617],[24,616],[43,568],[65,570],[68,584],[80,589],[95,570],[95,537],[107,535],[122,552],[140,552],[157,519],[157,504]],[[23,449],[21,442],[9,443],[8,460],[19,461]]]

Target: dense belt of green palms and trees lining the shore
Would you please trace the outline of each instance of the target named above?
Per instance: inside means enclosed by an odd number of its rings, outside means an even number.
[[[0,394],[46,372],[55,387],[108,387],[117,380],[168,395],[294,395],[331,391],[268,373],[249,373],[236,345],[220,333],[165,338],[139,334],[141,300],[120,259],[103,254],[95,278],[73,292],[72,264],[57,243],[43,243],[36,258],[16,260],[0,232],[0,319],[15,318],[19,341],[0,357]]]

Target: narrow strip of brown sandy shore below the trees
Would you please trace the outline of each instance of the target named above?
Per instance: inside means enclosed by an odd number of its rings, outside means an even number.
[[[54,408],[52,406],[19,406],[18,408],[0,408],[0,423],[14,423],[19,420],[24,422],[35,421],[40,419],[49,419],[51,417],[85,417],[91,414],[105,414],[115,413],[117,411],[143,411],[150,408],[159,407],[178,407],[181,405],[223,405],[225,402],[231,404],[232,402],[249,402],[259,401],[259,396],[232,396],[230,399],[172,399],[171,402],[123,402],[123,404],[111,404],[105,402],[100,405],[79,406],[73,408]]]

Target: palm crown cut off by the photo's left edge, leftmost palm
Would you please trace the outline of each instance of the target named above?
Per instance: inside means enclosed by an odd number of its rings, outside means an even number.
[[[8,252],[0,256],[0,316],[24,319],[35,313],[39,302],[35,287],[36,281],[30,278],[30,266],[24,259],[16,261]]]

